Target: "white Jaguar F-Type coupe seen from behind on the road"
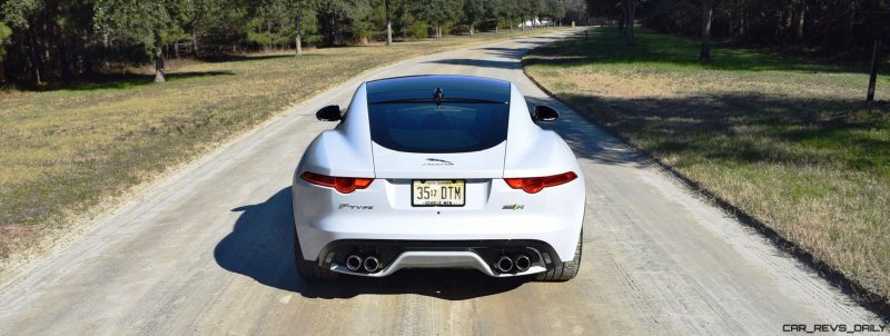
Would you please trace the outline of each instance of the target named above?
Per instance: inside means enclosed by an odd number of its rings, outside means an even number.
[[[308,280],[475,268],[568,280],[581,264],[584,177],[515,85],[466,76],[363,83],[294,176],[296,264]]]

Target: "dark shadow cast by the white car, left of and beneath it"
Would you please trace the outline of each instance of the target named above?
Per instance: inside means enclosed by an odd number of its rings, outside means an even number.
[[[528,281],[527,278],[491,278],[476,270],[405,269],[385,278],[343,276],[335,281],[307,283],[297,276],[294,265],[291,209],[289,187],[261,204],[231,209],[240,216],[231,233],[214,249],[217,264],[259,284],[307,298],[417,294],[463,300],[508,291]]]

